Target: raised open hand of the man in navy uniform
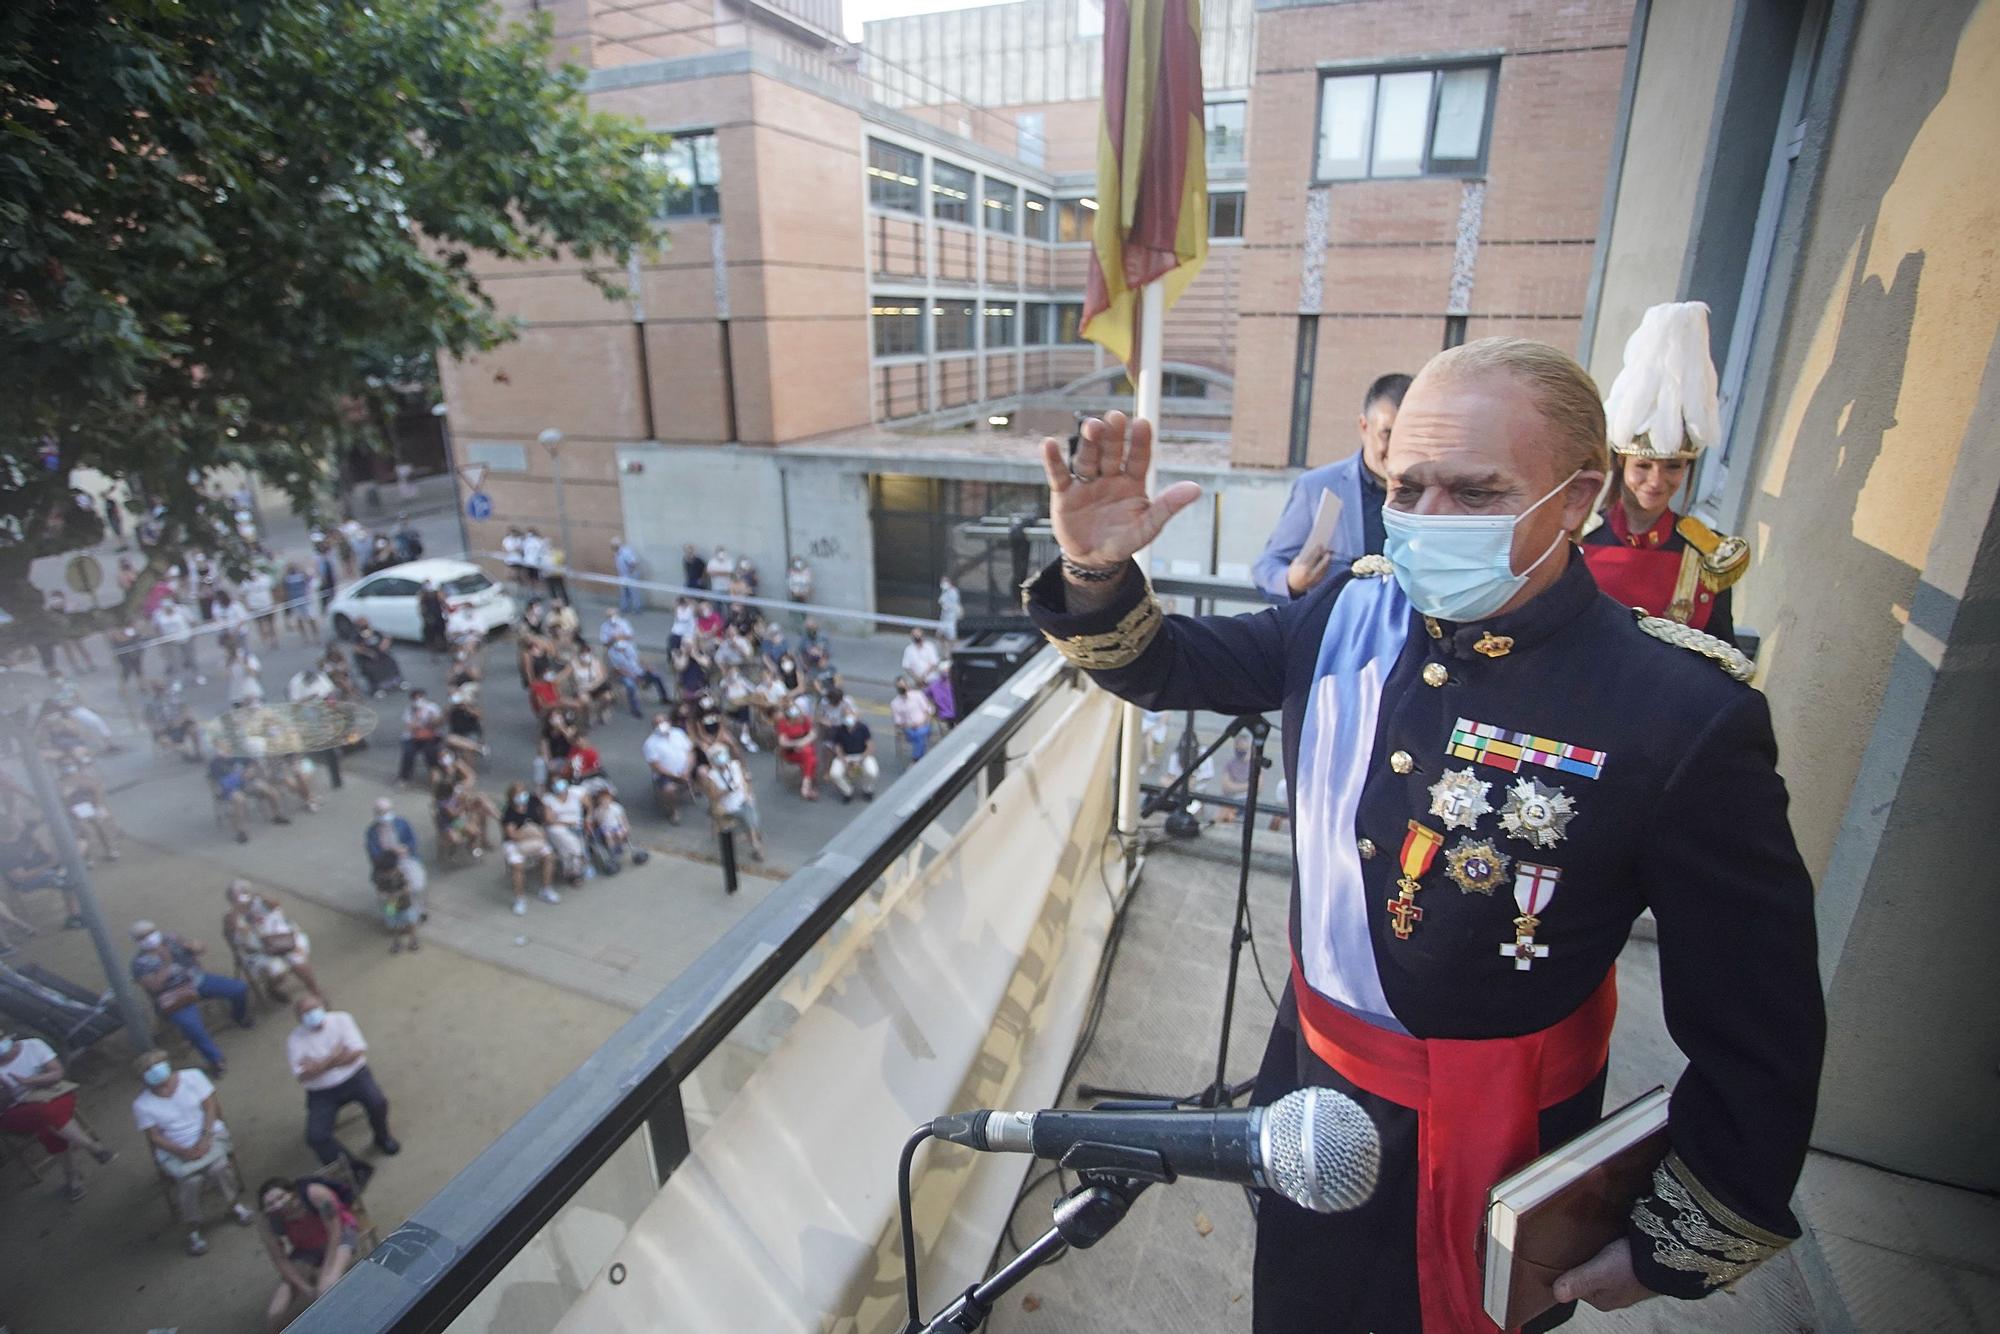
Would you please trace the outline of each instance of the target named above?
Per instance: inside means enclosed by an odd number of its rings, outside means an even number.
[[[1048,518],[1064,556],[1080,566],[1114,566],[1152,544],[1166,520],[1200,498],[1202,488],[1194,482],[1174,482],[1148,496],[1150,462],[1152,422],[1128,422],[1124,412],[1084,422],[1074,472],[1062,442],[1042,438]]]

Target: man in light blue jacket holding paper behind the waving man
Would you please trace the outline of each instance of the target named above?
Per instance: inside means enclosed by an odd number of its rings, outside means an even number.
[[[1308,468],[1292,482],[1278,524],[1270,530],[1264,554],[1250,566],[1250,578],[1276,602],[1302,598],[1326,582],[1334,570],[1344,570],[1356,556],[1382,550],[1382,480],[1388,476],[1388,440],[1396,430],[1396,412],[1410,388],[1410,376],[1376,376],[1362,394],[1362,414],[1354,428],[1362,448],[1342,460]],[[1306,544],[1312,522],[1320,514],[1320,496],[1332,492],[1340,500],[1340,518],[1326,544]]]

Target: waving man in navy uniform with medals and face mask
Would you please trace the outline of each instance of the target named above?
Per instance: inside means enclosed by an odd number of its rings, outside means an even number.
[[[1062,558],[1028,610],[1144,708],[1284,710],[1292,982],[1254,1098],[1336,1088],[1384,1146],[1354,1212],[1262,1196],[1256,1330],[1494,1330],[1486,1190],[1602,1114],[1646,908],[1688,1056],[1672,1152],[1526,1328],[1698,1298],[1796,1238],[1826,1020],[1770,712],[1740,652],[1636,618],[1578,558],[1606,466],[1584,370],[1518,338],[1432,358],[1388,450],[1386,558],[1238,618],[1164,616],[1130,560],[1200,494],[1146,494],[1150,426],[1082,436],[1042,446]]]

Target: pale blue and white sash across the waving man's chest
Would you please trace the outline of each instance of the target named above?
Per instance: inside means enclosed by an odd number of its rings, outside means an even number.
[[[1410,600],[1394,578],[1356,578],[1342,588],[1326,618],[1298,738],[1298,964],[1320,996],[1394,1032],[1408,1030],[1390,1014],[1376,972],[1354,814],[1382,684],[1408,634]],[[1382,834],[1382,854],[1394,858],[1404,830]]]

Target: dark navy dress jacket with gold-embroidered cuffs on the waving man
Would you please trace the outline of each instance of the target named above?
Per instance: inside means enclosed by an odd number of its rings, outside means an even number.
[[[1130,662],[1092,676],[1144,708],[1282,710],[1284,772],[1298,792],[1300,722],[1320,640],[1352,580],[1342,572],[1296,602],[1248,616],[1166,616]],[[1130,634],[1134,622],[1150,620],[1136,616],[1150,600],[1136,566],[1106,610],[1070,614],[1064,594],[1060,568],[1050,566],[1028,586],[1026,604],[1066,654],[1102,664],[1144,638]],[[1092,656],[1118,638],[1104,636],[1120,624],[1128,648]],[[1486,656],[1474,648],[1484,636],[1512,642],[1502,656]],[[1426,680],[1426,666],[1442,674]],[[1536,930],[1550,954],[1530,972],[1498,950],[1514,936],[1510,884],[1464,894],[1442,874],[1442,856],[1424,878],[1418,930],[1408,940],[1390,930],[1404,832],[1410,820],[1438,826],[1430,788],[1446,768],[1468,764],[1446,754],[1460,718],[1606,754],[1596,780],[1472,766],[1494,784],[1494,814],[1470,832],[1562,870]],[[1408,756],[1408,774],[1392,768],[1398,752]],[[1372,856],[1364,848],[1362,876],[1382,986],[1396,1018],[1420,1038],[1516,1036],[1554,1024],[1596,990],[1632,920],[1652,910],[1666,1022],[1688,1056],[1672,1100],[1674,1150],[1700,1184],[1706,1222],[1754,1240],[1758,1258],[1798,1236],[1788,1204],[1824,1046],[1812,882],[1792,840],[1776,758],[1764,696],[1698,652],[1640,630],[1630,610],[1598,592],[1572,550],[1556,584],[1512,614],[1454,626],[1412,612],[1382,690],[1356,814],[1356,838],[1374,844]],[[1574,800],[1560,844],[1502,840],[1498,808],[1516,778],[1540,778]],[[1296,932],[1296,876],[1292,894]],[[1588,1128],[1600,1096],[1602,1084],[1576,1106],[1546,1112],[1544,1148]],[[1728,1266],[1684,1244],[1702,1220],[1676,1214],[1674,1202],[1652,1208],[1666,1238],[1632,1230],[1640,1278],[1676,1296],[1718,1286]]]

